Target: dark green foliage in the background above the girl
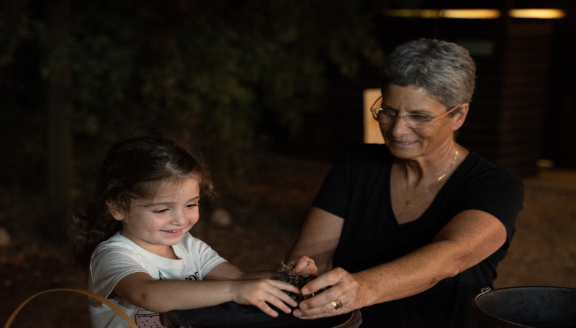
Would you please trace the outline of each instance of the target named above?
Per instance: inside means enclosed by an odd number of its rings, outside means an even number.
[[[59,69],[46,11],[3,1],[0,183],[43,190],[47,80]],[[322,104],[327,72],[380,63],[378,1],[72,1],[76,190],[111,141],[161,134],[204,152],[233,190],[278,136]],[[281,133],[279,133],[279,131]]]

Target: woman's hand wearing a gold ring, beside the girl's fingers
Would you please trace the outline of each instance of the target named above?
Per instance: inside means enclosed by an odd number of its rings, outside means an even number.
[[[366,305],[366,288],[358,276],[342,268],[328,271],[302,287],[302,294],[310,294],[324,287],[332,286],[315,297],[302,301],[294,315],[302,319],[317,319],[340,315]],[[335,302],[342,307],[336,309]]]

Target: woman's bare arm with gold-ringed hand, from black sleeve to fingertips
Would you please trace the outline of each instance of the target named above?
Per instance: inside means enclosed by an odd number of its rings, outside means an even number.
[[[403,257],[353,274],[335,268],[310,281],[302,287],[303,294],[331,288],[301,302],[294,315],[322,318],[410,297],[480,263],[505,241],[506,229],[497,218],[482,211],[463,211],[431,243]],[[336,299],[343,308],[333,311],[330,304]]]

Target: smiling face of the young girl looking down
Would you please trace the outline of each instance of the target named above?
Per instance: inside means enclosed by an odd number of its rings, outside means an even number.
[[[200,187],[196,178],[166,183],[152,201],[135,199],[129,213],[111,211],[122,221],[122,236],[153,254],[175,258],[173,245],[199,220]]]

